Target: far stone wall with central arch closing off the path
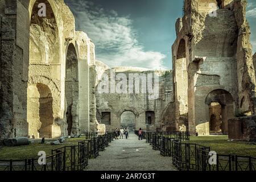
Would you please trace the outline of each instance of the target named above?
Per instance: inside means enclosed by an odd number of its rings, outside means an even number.
[[[96,106],[97,106],[97,119],[101,123],[102,113],[110,113],[110,125],[106,125],[107,131],[113,131],[116,127],[121,127],[121,115],[125,111],[131,111],[135,115],[135,128],[138,130],[140,127],[147,131],[160,131],[168,130],[170,128],[166,127],[165,124],[172,123],[174,120],[174,115],[171,113],[172,104],[174,102],[173,97],[173,85],[171,81],[172,72],[169,71],[147,71],[142,68],[109,68],[100,61],[96,61],[96,71],[97,71],[97,81],[96,81]],[[137,76],[142,76],[140,74],[148,75],[159,75],[159,96],[155,98],[150,98],[150,94],[143,93],[140,90],[139,93],[130,93],[129,88],[129,74],[138,74]],[[120,80],[118,75],[126,76],[127,80]],[[117,77],[115,77],[117,76]],[[148,77],[149,79],[149,77]],[[109,84],[105,84],[106,81]],[[119,85],[119,88],[127,90],[127,93],[118,92],[118,90],[113,90],[113,84],[118,88],[118,84],[123,83],[123,87]],[[135,82],[134,82],[135,83]],[[124,87],[127,86],[127,88]],[[142,86],[140,82],[139,86]],[[106,92],[102,92],[102,88],[106,88]],[[112,88],[111,88],[112,87]],[[142,89],[142,87],[141,87]],[[154,111],[155,113],[155,123],[152,125],[146,124],[146,111]],[[170,117],[165,118],[163,121],[163,114],[168,113]]]

